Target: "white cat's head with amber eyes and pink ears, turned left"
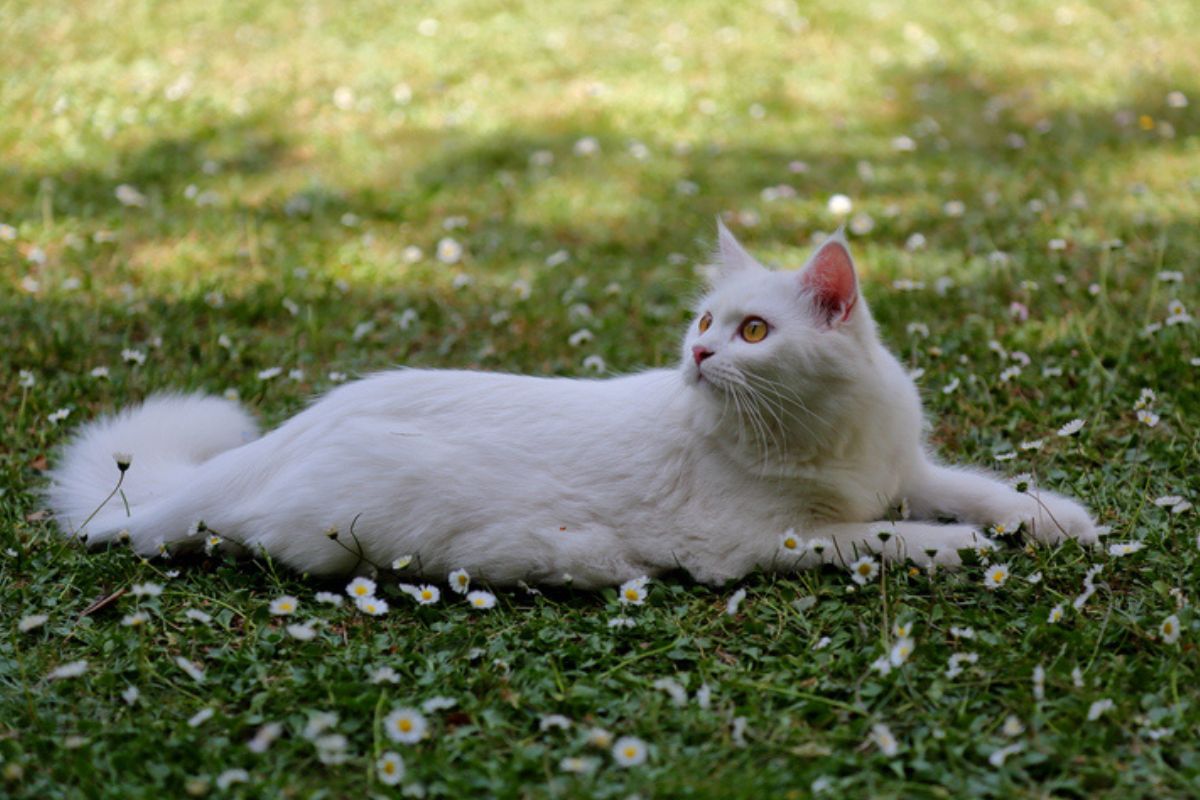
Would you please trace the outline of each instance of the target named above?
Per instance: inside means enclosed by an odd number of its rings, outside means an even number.
[[[721,402],[817,409],[870,379],[880,345],[841,231],[796,271],[768,270],[722,224],[719,242],[684,336],[685,383]]]

